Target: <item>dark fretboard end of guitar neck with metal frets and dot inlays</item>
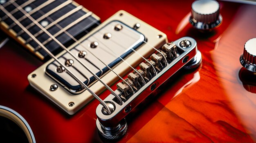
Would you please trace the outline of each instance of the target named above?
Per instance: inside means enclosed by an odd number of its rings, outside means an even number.
[[[7,9],[11,15],[55,55],[62,51],[61,47],[43,32],[35,22],[41,24],[63,45],[70,46],[74,43],[74,40],[65,31],[79,39],[96,27],[100,20],[97,15],[71,0],[3,0],[1,1],[1,7]],[[27,13],[22,13],[20,9],[24,9]],[[28,18],[29,15],[36,21],[31,21]],[[11,18],[3,12],[0,13],[0,17],[0,27],[5,33],[40,59],[49,58],[47,53]]]

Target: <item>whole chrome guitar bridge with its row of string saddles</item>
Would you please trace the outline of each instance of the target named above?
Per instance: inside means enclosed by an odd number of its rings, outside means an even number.
[[[128,75],[125,79],[126,83],[117,84],[115,92],[122,98],[123,104],[120,104],[112,94],[104,99],[111,110],[110,114],[99,104],[96,110],[99,133],[106,139],[118,139],[123,136],[127,130],[126,115],[177,70],[186,64],[187,66],[194,64],[189,62],[197,58],[196,54],[200,52],[197,50],[195,40],[191,37],[182,37],[164,44],[150,56],[150,59],[146,59],[139,65],[140,69]],[[197,60],[200,63],[201,57],[199,56]],[[136,73],[142,77],[137,76]]]

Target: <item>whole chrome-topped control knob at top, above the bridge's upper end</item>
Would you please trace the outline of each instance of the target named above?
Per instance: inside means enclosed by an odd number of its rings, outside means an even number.
[[[189,22],[200,30],[210,30],[222,22],[220,4],[216,0],[196,0],[192,4]]]

